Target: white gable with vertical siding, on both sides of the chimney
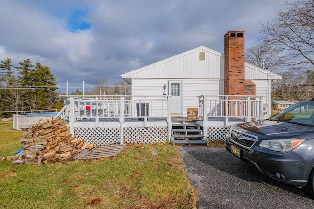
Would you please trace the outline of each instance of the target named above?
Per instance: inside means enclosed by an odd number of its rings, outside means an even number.
[[[208,52],[204,61],[198,58],[200,51]],[[223,53],[199,46],[120,76],[129,84],[131,84],[132,78],[223,79],[224,57]],[[193,70],[191,70],[192,68]],[[245,63],[245,78],[277,80],[281,79],[281,76]]]

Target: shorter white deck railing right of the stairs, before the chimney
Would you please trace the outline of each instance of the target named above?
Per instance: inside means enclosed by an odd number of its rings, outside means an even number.
[[[205,123],[208,118],[223,118],[227,126],[229,118],[248,122],[264,117],[262,96],[202,95],[198,99],[199,118]]]

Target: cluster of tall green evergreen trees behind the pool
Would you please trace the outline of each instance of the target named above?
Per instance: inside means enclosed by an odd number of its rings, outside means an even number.
[[[17,79],[11,70],[12,61],[7,58],[0,64],[0,90],[1,111],[24,111],[53,109],[58,102],[56,79],[48,66],[36,63],[34,66],[29,59],[19,62]],[[1,116],[11,116],[0,114]]]

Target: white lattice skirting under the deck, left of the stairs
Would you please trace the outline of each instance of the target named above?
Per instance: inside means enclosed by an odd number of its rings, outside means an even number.
[[[95,145],[120,143],[120,128],[76,127],[74,134]],[[124,128],[124,143],[157,143],[168,141],[168,127]]]

